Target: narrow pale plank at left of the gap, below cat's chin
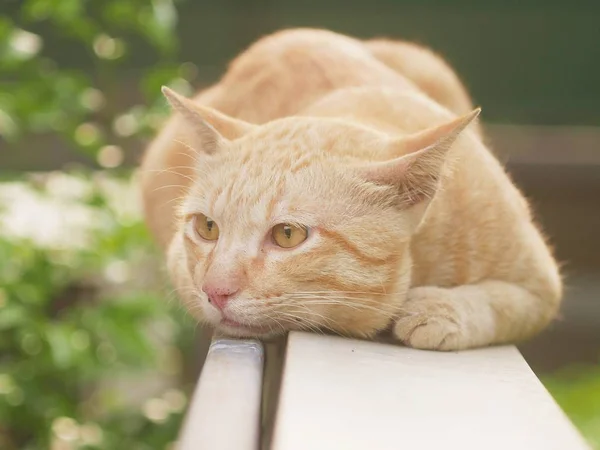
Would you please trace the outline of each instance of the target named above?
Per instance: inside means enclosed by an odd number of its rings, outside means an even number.
[[[213,340],[178,450],[258,450],[263,361],[256,340]]]

